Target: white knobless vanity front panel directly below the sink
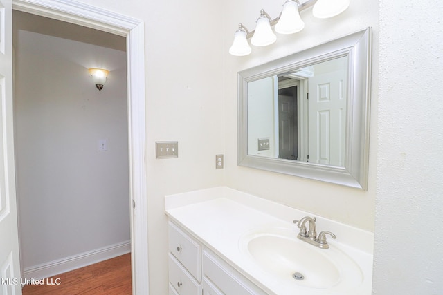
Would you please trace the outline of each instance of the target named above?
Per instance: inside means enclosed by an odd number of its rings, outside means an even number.
[[[222,294],[267,295],[248,278],[208,250],[203,251],[202,264],[204,280],[208,278],[210,283],[218,288],[215,288],[215,290],[221,291]],[[217,292],[214,294],[217,294]]]

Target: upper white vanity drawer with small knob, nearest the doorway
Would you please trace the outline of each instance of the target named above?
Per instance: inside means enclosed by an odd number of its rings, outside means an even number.
[[[201,282],[201,247],[177,225],[169,222],[169,251]]]

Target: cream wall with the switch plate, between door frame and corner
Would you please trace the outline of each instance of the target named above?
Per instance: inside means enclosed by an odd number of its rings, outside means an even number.
[[[89,4],[145,21],[150,294],[168,294],[164,196],[224,184],[223,1]],[[177,140],[179,158],[156,160],[155,142]],[[226,158],[225,158],[226,161]]]

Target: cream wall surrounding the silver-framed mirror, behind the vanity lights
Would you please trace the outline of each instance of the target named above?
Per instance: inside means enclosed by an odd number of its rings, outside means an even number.
[[[223,13],[226,117],[237,115],[237,71],[296,53],[369,26],[372,27],[374,39],[372,97],[377,97],[378,8],[371,1],[351,1],[350,8],[342,15],[325,20],[312,17],[311,8],[309,8],[301,13],[301,17],[305,21],[305,29],[302,32],[289,36],[278,35],[275,44],[265,48],[253,46],[253,52],[246,57],[234,57],[228,54],[228,48],[233,41],[233,35],[239,22],[242,22],[249,30],[254,30],[255,21],[260,16],[260,9],[266,10],[271,17],[277,17],[281,11],[282,3],[271,0],[226,1]],[[253,193],[256,196],[309,211],[318,216],[332,218],[372,231],[374,229],[376,188],[376,146],[377,99],[373,99],[368,191],[361,191],[336,184],[237,166],[237,122],[236,120],[228,120],[226,121],[226,184],[240,191]]]

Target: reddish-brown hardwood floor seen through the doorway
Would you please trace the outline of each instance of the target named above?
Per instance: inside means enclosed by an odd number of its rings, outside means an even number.
[[[131,254],[58,274],[44,285],[26,285],[23,295],[130,295]],[[46,285],[48,283],[49,285]],[[53,283],[54,285],[50,285]],[[55,285],[60,283],[60,285]]]

